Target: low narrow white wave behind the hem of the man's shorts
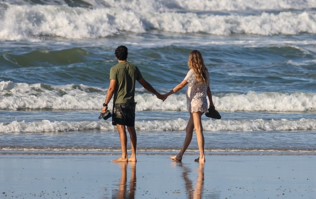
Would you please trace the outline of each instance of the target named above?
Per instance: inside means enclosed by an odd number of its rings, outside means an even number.
[[[135,128],[143,131],[185,131],[186,120],[162,120],[135,122]],[[203,120],[203,130],[208,131],[289,131],[289,130],[316,130],[315,119],[300,120]],[[115,131],[111,121],[99,122],[65,122],[42,120],[40,122],[2,122],[0,133],[45,133],[67,132],[81,130]]]

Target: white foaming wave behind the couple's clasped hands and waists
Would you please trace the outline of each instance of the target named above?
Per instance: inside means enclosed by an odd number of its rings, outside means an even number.
[[[94,92],[91,92],[91,91]],[[51,86],[0,82],[0,110],[60,109],[99,110],[106,97],[106,89],[85,85]],[[153,94],[136,93],[136,111],[186,111],[185,94],[174,94],[165,102]],[[315,111],[316,93],[256,93],[213,95],[219,111]],[[110,101],[112,104],[113,101]],[[112,105],[110,105],[111,107]]]

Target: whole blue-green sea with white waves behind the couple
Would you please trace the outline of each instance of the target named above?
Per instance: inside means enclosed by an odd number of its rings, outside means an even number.
[[[137,9],[135,9],[137,8]],[[202,117],[207,155],[316,155],[316,3],[5,0],[0,3],[0,154],[120,154],[98,120],[114,50],[158,92],[193,49],[221,120]],[[137,153],[175,155],[185,89],[158,100],[137,84]],[[110,107],[112,106],[110,102]],[[195,138],[187,154],[198,154]]]

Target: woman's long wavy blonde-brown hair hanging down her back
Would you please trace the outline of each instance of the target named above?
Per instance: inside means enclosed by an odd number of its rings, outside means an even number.
[[[207,84],[209,71],[204,65],[202,54],[198,50],[192,50],[188,65],[190,69],[193,69],[197,81],[202,84]]]

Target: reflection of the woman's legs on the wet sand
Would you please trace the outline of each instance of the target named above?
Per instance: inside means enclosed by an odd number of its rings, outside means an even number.
[[[200,199],[203,194],[204,187],[204,162],[199,162],[199,168],[197,169],[198,178],[196,181],[195,189],[193,189],[193,181],[189,178],[191,170],[187,168],[182,162],[177,162],[177,165],[182,168],[182,178],[185,182],[185,190],[189,199]]]

